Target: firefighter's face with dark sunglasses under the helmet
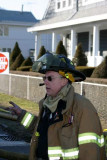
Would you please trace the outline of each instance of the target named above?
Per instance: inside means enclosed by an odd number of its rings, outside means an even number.
[[[66,78],[62,77],[58,72],[54,71],[46,72],[43,80],[46,86],[47,95],[52,97],[57,96],[61,88],[63,88],[68,83]]]

